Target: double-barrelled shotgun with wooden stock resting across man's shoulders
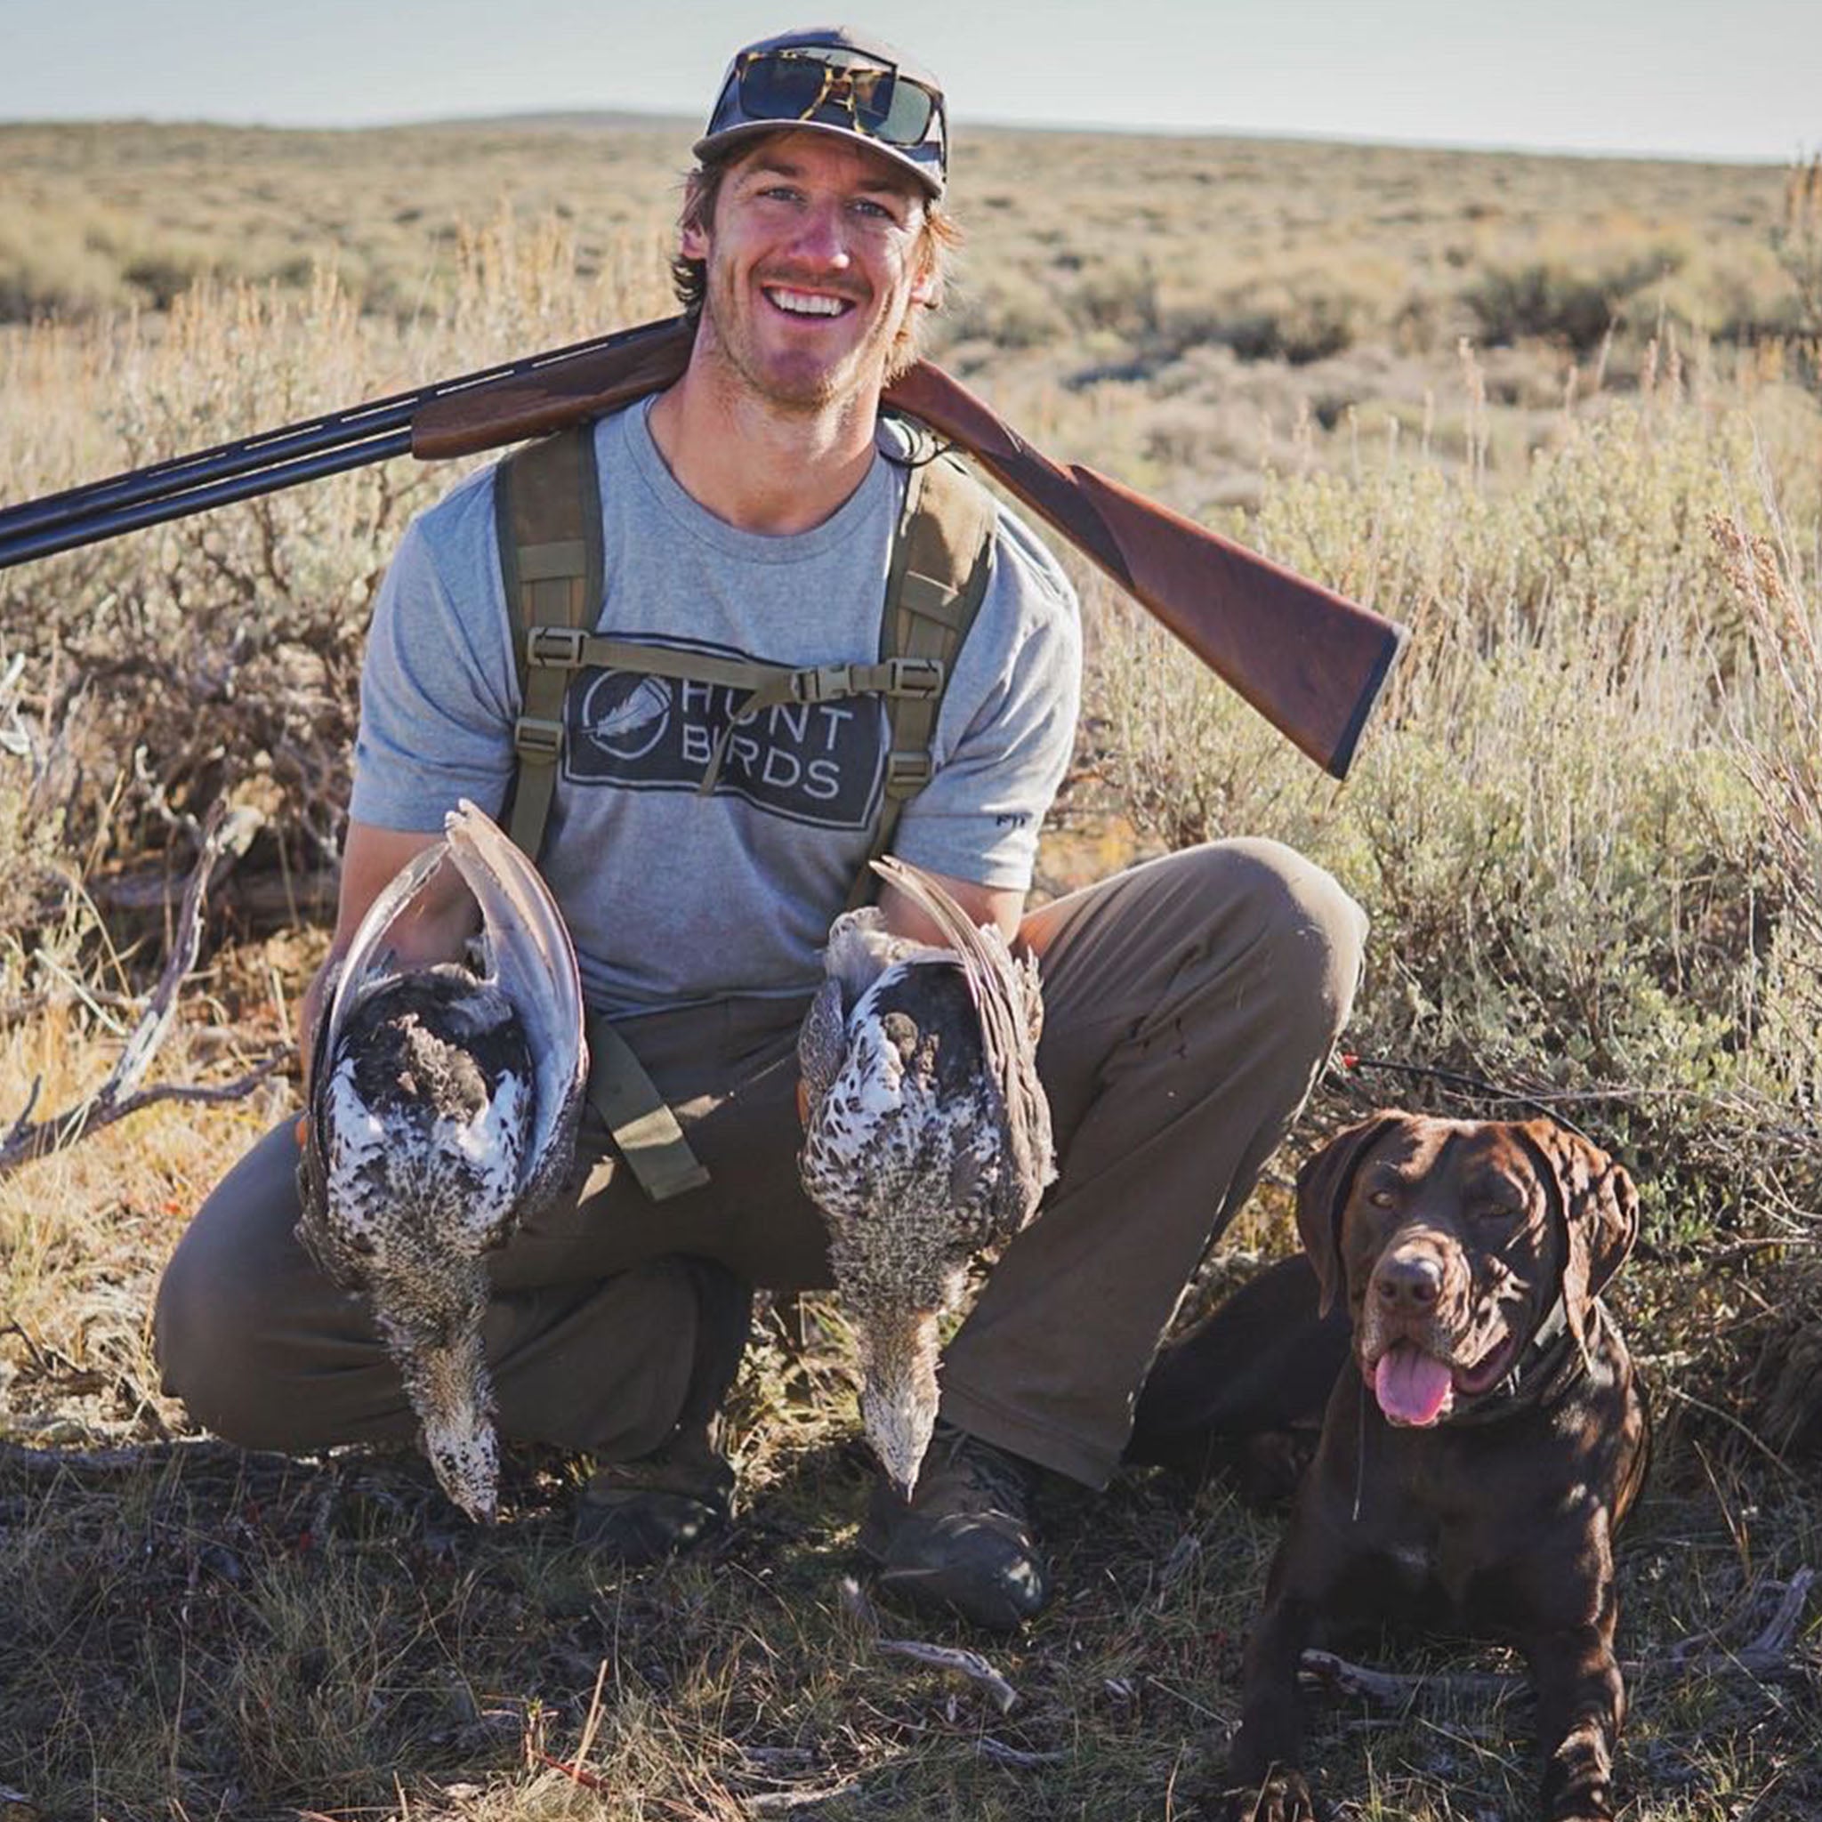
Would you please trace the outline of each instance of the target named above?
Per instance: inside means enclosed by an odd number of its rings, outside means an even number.
[[[437,461],[561,430],[669,386],[692,335],[687,319],[667,317],[4,508],[0,568],[390,456]],[[1295,747],[1346,778],[1403,627],[1093,468],[1051,461],[927,361],[885,403],[966,450]]]

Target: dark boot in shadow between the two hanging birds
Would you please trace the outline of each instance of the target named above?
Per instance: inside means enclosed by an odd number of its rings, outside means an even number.
[[[722,1401],[747,1346],[752,1286],[709,1259],[683,1264],[696,1286],[696,1354],[676,1428],[649,1456],[599,1469],[576,1510],[576,1541],[629,1569],[694,1549],[734,1516]]]

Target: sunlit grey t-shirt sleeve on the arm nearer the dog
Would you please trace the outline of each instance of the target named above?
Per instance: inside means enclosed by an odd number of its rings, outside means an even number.
[[[1075,747],[1080,692],[1075,590],[1002,507],[988,594],[937,722],[937,771],[906,805],[893,851],[978,885],[1029,887],[1039,831]]]

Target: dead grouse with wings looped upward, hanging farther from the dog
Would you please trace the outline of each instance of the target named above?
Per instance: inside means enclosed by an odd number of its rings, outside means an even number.
[[[481,907],[479,971],[401,969],[388,933],[439,867]],[[587,1046],[576,951],[537,869],[472,804],[374,900],[317,1026],[297,1235],[366,1295],[445,1492],[494,1516],[485,1255],[561,1188]]]

